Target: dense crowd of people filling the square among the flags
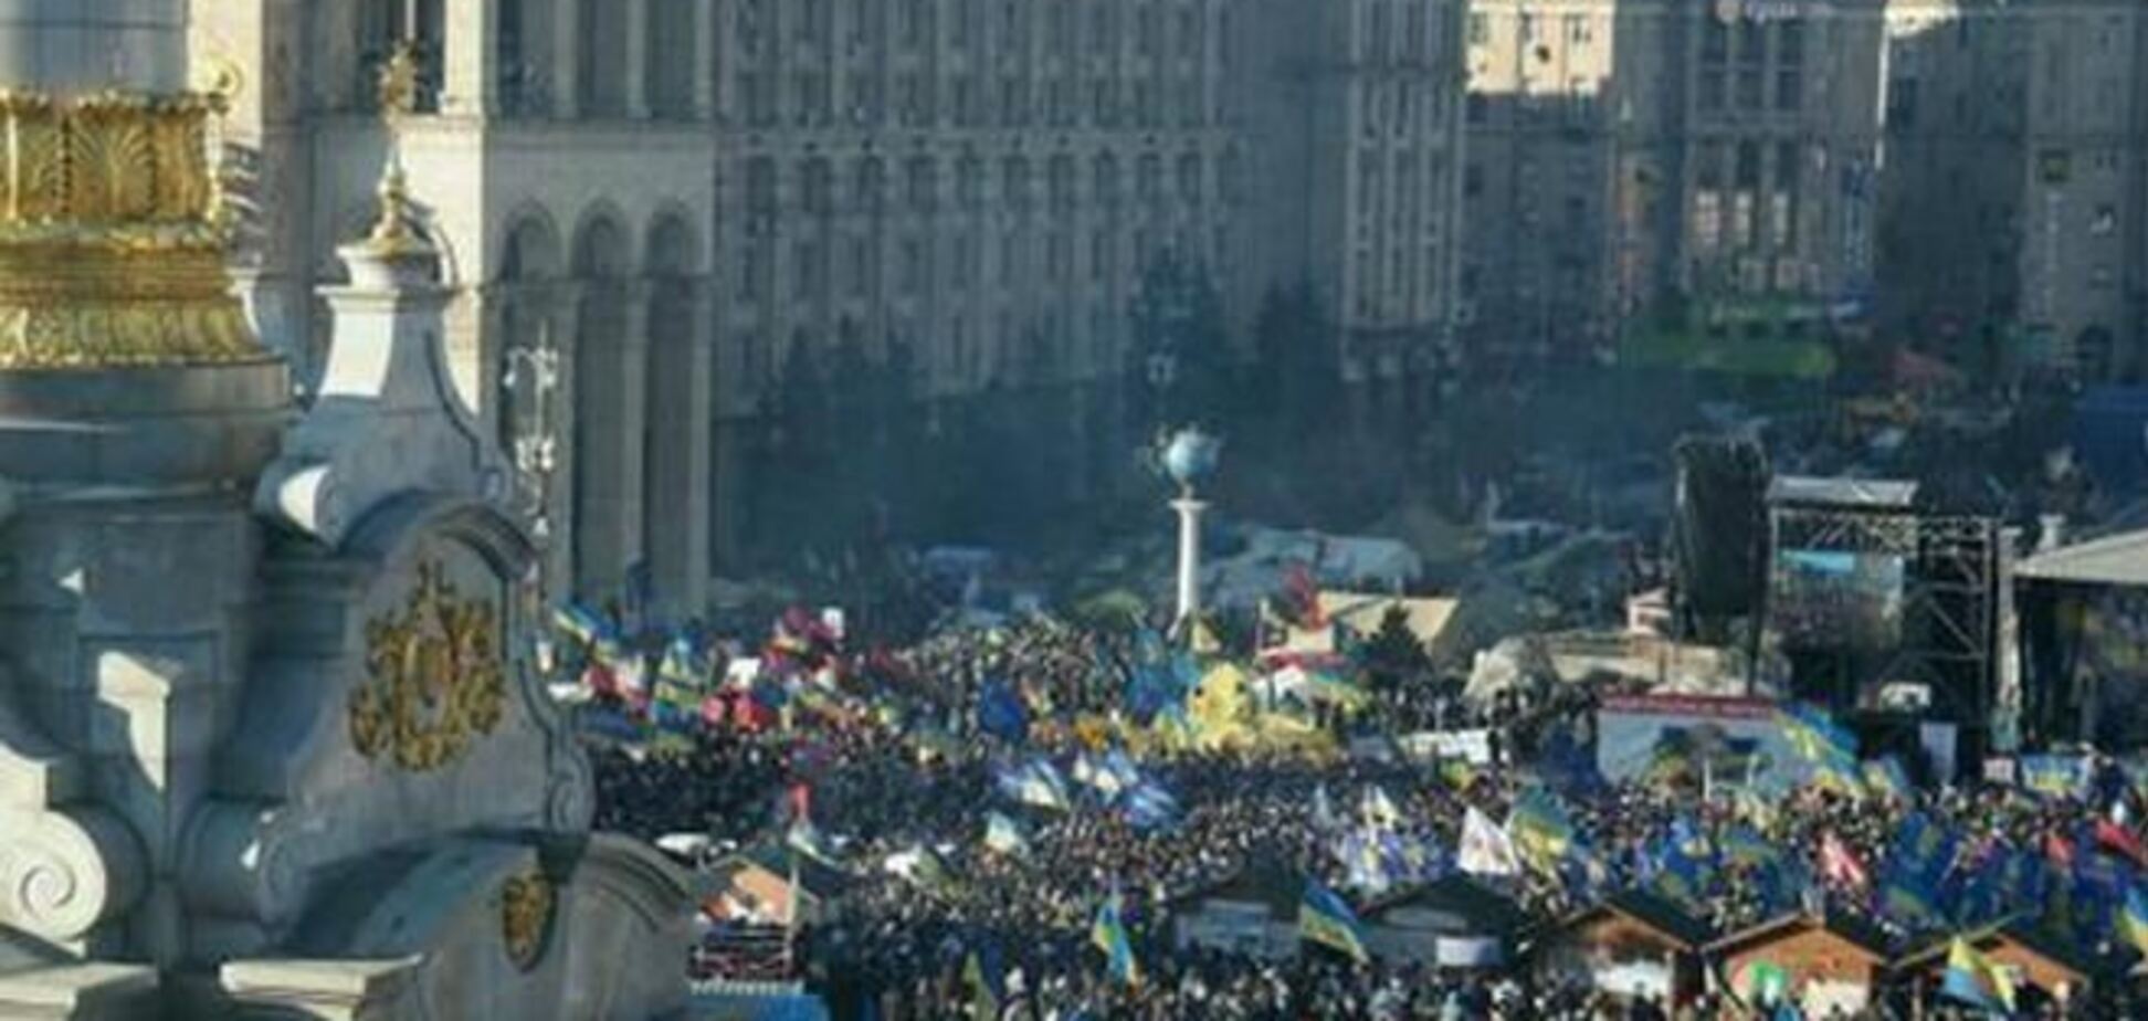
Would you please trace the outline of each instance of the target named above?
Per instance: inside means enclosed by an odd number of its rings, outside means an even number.
[[[1087,793],[1044,808],[1010,802],[1001,782],[1010,759],[1065,761],[1095,739],[1046,720],[1128,711],[1145,643],[1153,636],[1037,619],[947,632],[902,651],[806,653],[806,673],[838,677],[829,684],[866,692],[885,711],[707,727],[664,750],[604,742],[595,752],[599,825],[644,838],[696,832],[715,847],[743,847],[782,840],[786,825],[797,825],[793,793],[810,791],[812,823],[829,834],[814,853],[840,862],[851,881],[818,918],[797,924],[797,972],[836,1017],[1796,1017],[1761,1015],[1725,993],[1660,1004],[1607,995],[1585,976],[1431,969],[1317,946],[1263,961],[1173,937],[1171,909],[1181,896],[1248,868],[1278,868],[1364,898],[1364,862],[1342,849],[1353,834],[1377,830],[1388,847],[1428,849],[1390,860],[1379,875],[1381,886],[1407,886],[1469,866],[1461,849],[1471,815],[1508,819],[1512,832],[1514,819],[1544,802],[1557,810],[1540,821],[1555,830],[1557,847],[1508,875],[1480,875],[1540,924],[1615,890],[1648,888],[1716,933],[1802,909],[1854,916],[1910,948],[2013,911],[2049,922],[2049,907],[2069,903],[2075,907],[2058,922],[2077,937],[2081,959],[2131,963],[2114,890],[2084,886],[2071,864],[2109,862],[2116,879],[2107,879],[2127,886],[2131,871],[2148,864],[2129,858],[2139,843],[2124,813],[2137,819],[2139,802],[2116,767],[2073,797],[1995,785],[1701,797],[1688,782],[1594,776],[1577,754],[1594,699],[1579,686],[1491,705],[1454,701],[1456,724],[1499,735],[1491,763],[1194,750],[1141,761],[1145,782],[1177,804],[1164,825],[1106,810]],[[833,668],[831,658],[840,660]],[[1040,724],[1020,739],[982,727],[995,688],[1018,690]],[[1398,705],[1409,707],[1409,722],[1422,716],[1422,699],[1375,696],[1360,714],[1325,724],[1342,735],[1396,733],[1400,718],[1385,714]],[[1362,810],[1373,802],[1379,819]],[[2107,815],[2114,806],[2116,821]],[[988,810],[1018,819],[1018,847],[979,840]],[[1935,834],[1929,847],[1905,851],[1905,834],[1925,832]],[[1920,862],[1918,853],[1944,862]],[[883,866],[902,855],[928,855],[934,866]],[[2066,868],[2053,864],[2060,858]],[[2036,866],[2036,901],[2011,903],[2032,890],[2015,875],[2023,862]],[[1925,868],[1931,873],[1916,875]],[[1897,903],[1897,892],[1912,905]],[[2124,894],[2116,890],[2118,901]],[[1115,976],[1091,941],[1104,896],[1121,905],[1138,982]],[[2034,1010],[2135,1017],[2122,969],[2111,976],[2066,1004],[2032,997]],[[1922,1017],[1959,1010],[1927,1000]],[[1884,1008],[1875,1004],[1871,1017],[1886,1017]]]

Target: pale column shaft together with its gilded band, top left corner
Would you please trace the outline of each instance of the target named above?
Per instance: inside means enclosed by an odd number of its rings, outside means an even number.
[[[264,357],[185,28],[187,0],[0,4],[0,370]]]

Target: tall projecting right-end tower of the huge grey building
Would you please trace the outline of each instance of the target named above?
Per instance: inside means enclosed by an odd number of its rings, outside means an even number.
[[[1259,0],[1257,273],[1312,286],[1375,402],[1456,361],[1465,6]]]

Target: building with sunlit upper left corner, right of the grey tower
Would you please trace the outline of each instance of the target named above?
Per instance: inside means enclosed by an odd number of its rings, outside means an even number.
[[[1609,357],[1673,305],[1826,329],[1873,288],[1877,0],[1478,0],[1469,342]]]

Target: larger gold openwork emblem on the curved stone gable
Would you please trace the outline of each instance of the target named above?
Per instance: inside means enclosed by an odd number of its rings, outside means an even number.
[[[410,602],[365,625],[365,673],[350,692],[359,754],[412,772],[453,763],[507,707],[498,613],[460,598],[440,563],[421,563]]]

